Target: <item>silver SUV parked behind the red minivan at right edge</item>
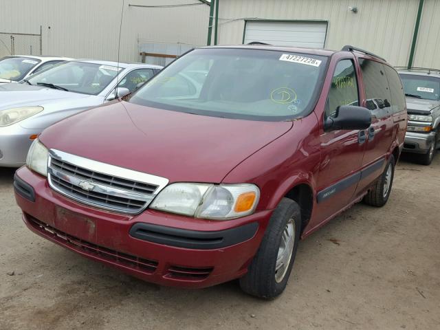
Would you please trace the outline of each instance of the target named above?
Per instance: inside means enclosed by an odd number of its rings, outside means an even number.
[[[440,70],[399,68],[408,108],[404,152],[429,165],[440,147]]]

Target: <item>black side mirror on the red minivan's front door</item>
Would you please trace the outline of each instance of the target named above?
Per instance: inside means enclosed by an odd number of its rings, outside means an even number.
[[[336,109],[335,117],[327,117],[324,121],[325,131],[368,129],[370,125],[371,111],[354,105],[341,105]]]

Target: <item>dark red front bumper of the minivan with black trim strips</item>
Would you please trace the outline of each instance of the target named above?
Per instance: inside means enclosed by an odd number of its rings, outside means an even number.
[[[193,219],[155,210],[131,216],[67,199],[52,190],[45,177],[26,167],[17,171],[16,181],[16,200],[30,230],[89,259],[159,285],[208,287],[243,276],[272,214],[266,210],[231,221]],[[136,236],[133,230],[139,228],[142,230]],[[168,230],[168,236],[158,235],[157,228]],[[231,230],[241,239],[224,236]],[[188,245],[188,235],[182,240],[176,232],[202,236],[190,237]],[[215,232],[223,233],[223,239],[214,237],[212,241],[210,234]],[[208,245],[203,247],[203,243]]]

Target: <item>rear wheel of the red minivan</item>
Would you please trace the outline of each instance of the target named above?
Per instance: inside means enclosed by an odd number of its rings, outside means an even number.
[[[386,173],[388,173],[388,169],[391,168],[391,177],[388,177],[388,188],[386,188]],[[391,188],[393,188],[393,179],[394,179],[394,170],[395,170],[395,161],[394,156],[390,156],[390,160],[388,161],[388,164],[385,167],[384,173],[380,176],[379,179],[375,182],[374,186],[371,187],[369,192],[364,197],[364,203],[376,206],[377,208],[380,208],[386,204],[388,201],[388,198],[391,194]],[[385,192],[386,189],[386,192]]]

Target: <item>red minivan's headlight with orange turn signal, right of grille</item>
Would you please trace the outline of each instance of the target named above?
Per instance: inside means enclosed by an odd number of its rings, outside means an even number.
[[[252,214],[260,190],[254,184],[170,184],[150,208],[202,219],[227,220]]]

